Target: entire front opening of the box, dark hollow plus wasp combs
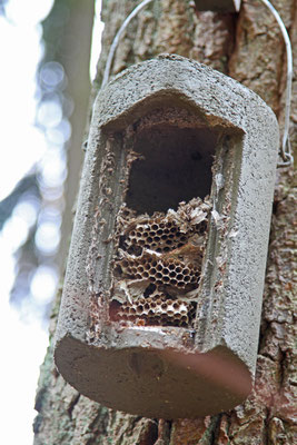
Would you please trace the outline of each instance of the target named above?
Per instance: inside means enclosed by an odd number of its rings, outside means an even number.
[[[111,320],[192,327],[220,132],[175,106],[146,113],[127,131],[133,161],[117,226]]]

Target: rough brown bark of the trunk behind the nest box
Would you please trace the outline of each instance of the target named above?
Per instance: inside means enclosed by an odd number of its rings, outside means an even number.
[[[139,1],[103,0],[106,23],[93,95],[100,86],[113,36]],[[297,66],[297,6],[274,0],[290,32]],[[295,31],[295,33],[294,33]],[[285,46],[259,0],[242,2],[239,16],[197,13],[189,0],[156,0],[133,19],[116,53],[113,73],[131,63],[172,52],[207,63],[256,91],[284,120]],[[297,78],[294,79],[291,145],[297,155]],[[281,127],[281,126],[280,126]],[[296,185],[295,185],[296,186]],[[294,177],[278,170],[254,394],[231,412],[194,421],[164,422],[107,409],[71,388],[55,368],[50,347],[36,399],[36,445],[241,445],[294,444]],[[294,380],[295,379],[295,380]],[[296,434],[296,433],[295,433]]]

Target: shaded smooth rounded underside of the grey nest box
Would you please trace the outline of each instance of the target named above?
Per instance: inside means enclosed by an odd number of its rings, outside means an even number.
[[[78,392],[130,414],[195,418],[228,411],[251,389],[247,367],[219,347],[207,354],[176,349],[105,349],[65,337],[56,363]]]

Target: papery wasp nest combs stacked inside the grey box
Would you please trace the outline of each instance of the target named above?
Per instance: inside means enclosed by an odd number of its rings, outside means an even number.
[[[191,325],[209,209],[197,198],[167,215],[136,217],[127,208],[122,210],[111,319],[150,326]]]

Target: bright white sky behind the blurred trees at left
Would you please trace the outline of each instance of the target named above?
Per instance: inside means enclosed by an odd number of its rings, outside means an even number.
[[[97,1],[99,17],[100,1]],[[9,0],[7,17],[0,17],[0,200],[6,198],[17,182],[34,165],[43,176],[51,178],[57,169],[62,172],[65,159],[59,151],[49,150],[48,139],[34,125],[38,98],[36,95],[36,70],[42,58],[41,26],[49,13],[52,0]],[[99,19],[95,22],[91,78],[100,52]],[[4,43],[3,43],[4,42]],[[59,112],[59,110],[57,111]],[[50,166],[50,167],[49,167]],[[61,174],[62,177],[62,174]],[[32,307],[20,317],[9,304],[14,280],[16,251],[27,238],[36,221],[36,207],[20,204],[0,233],[0,335],[1,335],[1,443],[31,445],[32,422],[39,367],[48,346],[48,333]],[[55,227],[43,225],[37,234],[37,244],[47,248],[59,244]],[[40,268],[31,281],[34,303],[43,305],[55,295],[58,274],[50,268]]]

